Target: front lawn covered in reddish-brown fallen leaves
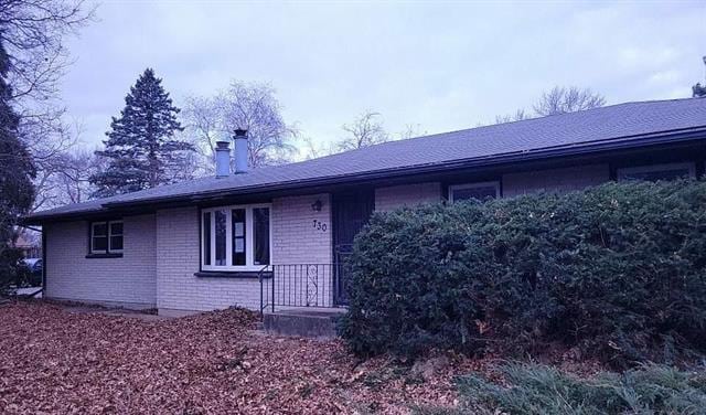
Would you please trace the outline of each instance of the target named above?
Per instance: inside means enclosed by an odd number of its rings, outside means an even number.
[[[361,363],[340,341],[268,337],[244,310],[143,321],[45,302],[0,307],[0,413],[408,413],[453,406],[456,374]]]

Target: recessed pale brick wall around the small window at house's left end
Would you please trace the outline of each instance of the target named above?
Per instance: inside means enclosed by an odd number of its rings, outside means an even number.
[[[46,297],[154,307],[154,215],[124,219],[121,258],[86,258],[88,222],[46,225]]]

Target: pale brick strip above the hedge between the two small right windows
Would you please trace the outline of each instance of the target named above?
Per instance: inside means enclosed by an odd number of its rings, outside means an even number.
[[[608,180],[610,180],[608,164],[503,174],[503,195],[514,196],[541,190],[566,192],[605,183]]]

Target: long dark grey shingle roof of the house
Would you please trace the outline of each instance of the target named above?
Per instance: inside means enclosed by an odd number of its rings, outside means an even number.
[[[319,159],[255,169],[228,178],[203,178],[135,193],[39,212],[45,219],[99,210],[103,205],[139,203],[217,191],[254,191],[274,184],[301,187],[307,181],[441,166],[462,160],[491,160],[511,153],[577,148],[597,142],[639,139],[667,131],[706,129],[706,99],[619,104],[523,121],[392,141]]]

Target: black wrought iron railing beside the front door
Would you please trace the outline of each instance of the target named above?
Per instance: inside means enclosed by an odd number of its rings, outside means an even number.
[[[279,264],[259,273],[260,311],[276,307],[336,307],[334,264]]]

